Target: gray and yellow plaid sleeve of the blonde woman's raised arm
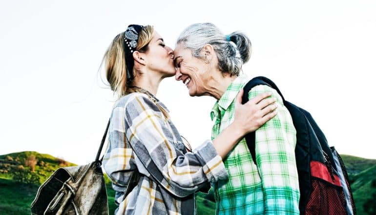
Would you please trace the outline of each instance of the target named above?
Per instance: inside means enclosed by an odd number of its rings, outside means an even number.
[[[206,182],[228,177],[211,141],[193,152],[182,153],[169,123],[144,94],[135,93],[126,104],[126,138],[154,180],[171,194],[184,197]]]

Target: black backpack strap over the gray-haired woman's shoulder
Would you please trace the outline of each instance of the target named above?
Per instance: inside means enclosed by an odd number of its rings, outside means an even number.
[[[243,93],[243,97],[242,97],[242,104],[245,104],[245,103],[247,103],[249,101],[248,94],[249,94],[250,90],[254,86],[258,86],[258,85],[266,85],[266,86],[272,87],[282,97],[283,103],[285,103],[285,99],[284,99],[281,91],[279,91],[278,87],[274,84],[274,82],[272,82],[272,80],[270,80],[270,79],[268,79],[266,77],[258,76],[258,77],[252,78],[251,81],[249,81],[243,87],[244,93]],[[245,136],[245,138],[246,138],[248,149],[251,152],[253,163],[255,165],[257,165],[257,163],[256,163],[256,149],[255,149],[255,144],[256,144],[256,142],[255,142],[255,132],[248,133]]]

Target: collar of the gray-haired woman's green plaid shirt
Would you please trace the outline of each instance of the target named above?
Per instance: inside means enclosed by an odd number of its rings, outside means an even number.
[[[242,74],[231,82],[230,86],[227,87],[225,93],[222,95],[219,101],[217,101],[214,104],[213,108],[211,108],[211,121],[213,121],[214,118],[217,118],[220,112],[225,112],[227,108],[230,107],[231,103],[236,98],[240,89],[243,88],[243,86],[247,83],[248,80],[248,76],[246,74]]]

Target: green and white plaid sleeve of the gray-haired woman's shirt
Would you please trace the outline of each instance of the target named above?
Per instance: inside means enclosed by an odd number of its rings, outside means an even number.
[[[265,214],[299,214],[299,181],[295,161],[296,130],[282,98],[269,86],[255,86],[250,99],[272,92],[277,115],[255,132],[255,154],[265,199]]]

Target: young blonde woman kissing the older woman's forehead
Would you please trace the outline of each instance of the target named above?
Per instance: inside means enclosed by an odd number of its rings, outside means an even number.
[[[234,122],[188,152],[167,108],[155,97],[160,82],[175,75],[173,59],[172,49],[149,25],[129,25],[104,55],[107,81],[119,95],[103,160],[116,191],[116,214],[195,214],[194,193],[207,182],[227,179],[222,159],[242,136],[275,116],[270,93],[244,105],[240,93]],[[130,186],[136,174],[136,186]]]

